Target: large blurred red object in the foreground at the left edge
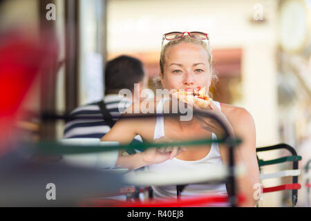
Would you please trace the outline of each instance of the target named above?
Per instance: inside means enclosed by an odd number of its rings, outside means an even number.
[[[19,108],[35,77],[57,61],[57,41],[44,31],[14,30],[0,34],[0,155],[8,151]]]

